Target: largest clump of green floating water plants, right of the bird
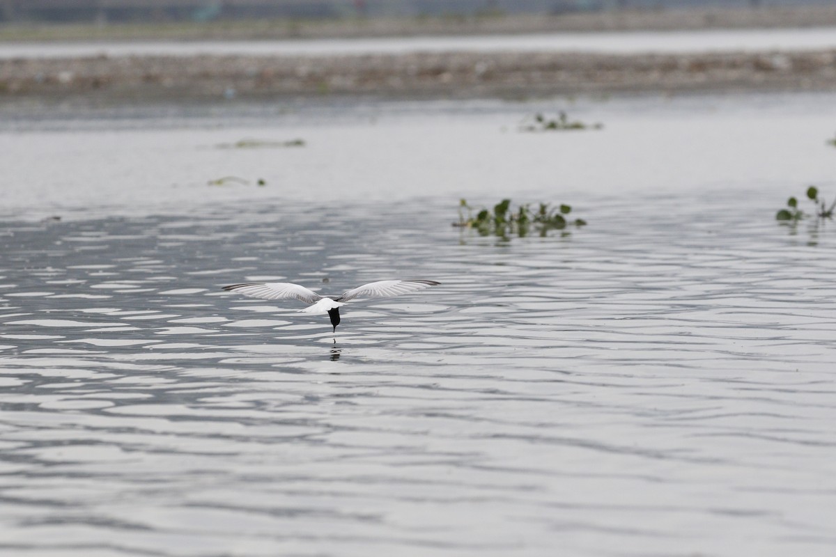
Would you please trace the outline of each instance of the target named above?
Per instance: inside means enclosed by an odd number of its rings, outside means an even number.
[[[473,228],[480,235],[497,235],[509,239],[511,235],[520,237],[529,235],[532,230],[540,236],[548,235],[549,230],[563,230],[569,225],[583,226],[586,220],[569,220],[572,212],[569,205],[551,207],[548,203],[538,203],[536,209],[530,205],[519,205],[511,210],[511,200],[502,200],[493,206],[493,210],[482,209],[474,216],[474,210],[466,200],[459,202],[459,221],[454,226]]]

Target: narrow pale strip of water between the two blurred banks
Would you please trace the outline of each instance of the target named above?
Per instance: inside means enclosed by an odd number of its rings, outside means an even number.
[[[284,41],[154,41],[136,43],[4,43],[0,58],[79,56],[334,56],[441,52],[710,53],[804,52],[836,48],[836,29],[708,29],[602,33],[346,38]]]

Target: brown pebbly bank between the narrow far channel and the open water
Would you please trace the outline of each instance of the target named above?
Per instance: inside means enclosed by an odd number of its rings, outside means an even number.
[[[530,98],[836,88],[836,50],[605,55],[407,53],[0,61],[0,101],[211,101],[283,96]]]

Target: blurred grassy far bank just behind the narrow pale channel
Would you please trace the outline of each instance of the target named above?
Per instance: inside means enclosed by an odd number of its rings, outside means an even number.
[[[283,40],[468,34],[836,27],[836,5],[793,8],[627,9],[426,18],[263,19],[208,23],[0,25],[9,41]]]

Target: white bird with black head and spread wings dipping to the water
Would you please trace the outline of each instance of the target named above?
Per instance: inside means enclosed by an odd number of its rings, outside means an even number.
[[[240,292],[244,296],[263,298],[264,300],[281,300],[283,298],[296,298],[310,306],[304,308],[303,313],[325,313],[331,318],[331,325],[334,332],[337,332],[339,325],[339,307],[344,306],[346,301],[354,298],[386,298],[400,296],[430,286],[436,286],[441,282],[421,281],[407,279],[405,281],[376,281],[358,286],[346,291],[342,296],[319,296],[316,292],[304,286],[293,284],[293,282],[247,282],[244,284],[233,284],[224,286],[223,289],[231,292]]]

